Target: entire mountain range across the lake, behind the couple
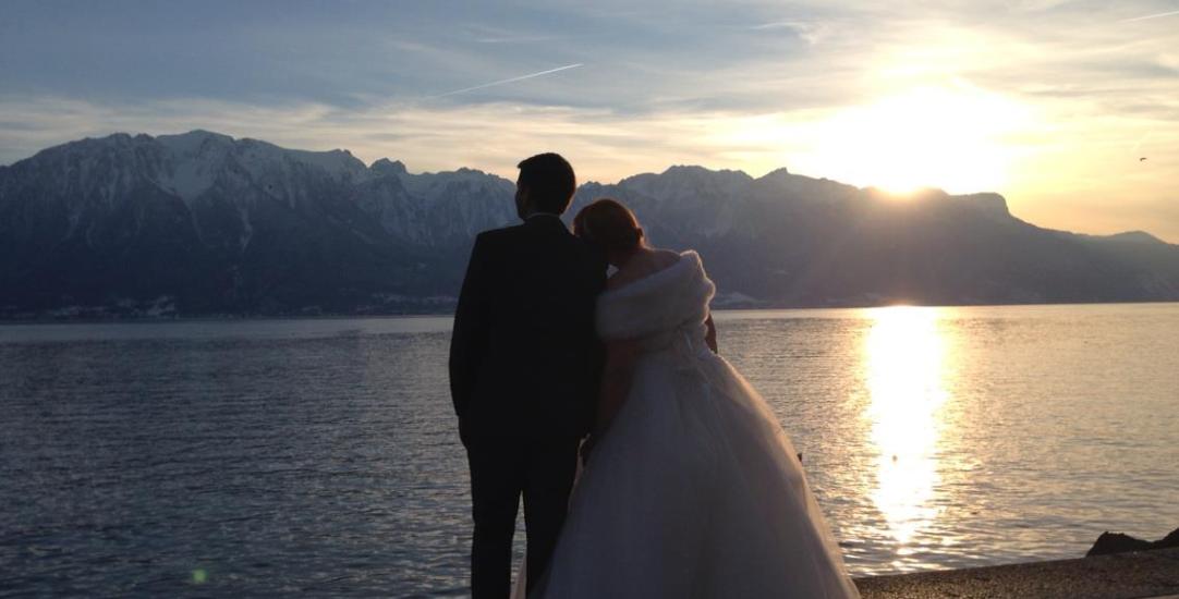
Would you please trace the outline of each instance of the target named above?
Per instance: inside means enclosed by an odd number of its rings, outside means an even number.
[[[206,131],[72,141],[0,166],[0,317],[446,311],[513,192]],[[569,215],[602,196],[697,249],[717,307],[1179,301],[1179,245],[1039,228],[995,193],[672,166],[586,183]]]

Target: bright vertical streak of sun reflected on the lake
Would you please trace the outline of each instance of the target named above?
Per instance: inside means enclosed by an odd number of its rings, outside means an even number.
[[[903,557],[913,537],[933,524],[938,481],[935,454],[941,435],[944,340],[937,308],[869,310],[864,341],[871,402],[871,441],[878,450],[872,501]]]

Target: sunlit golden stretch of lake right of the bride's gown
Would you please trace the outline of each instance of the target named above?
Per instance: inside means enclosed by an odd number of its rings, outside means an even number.
[[[857,575],[1080,557],[1179,522],[1179,304],[717,322]]]

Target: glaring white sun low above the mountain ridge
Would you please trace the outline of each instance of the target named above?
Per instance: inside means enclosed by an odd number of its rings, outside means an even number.
[[[910,88],[834,114],[819,160],[835,179],[894,193],[1001,191],[1015,158],[1005,137],[1027,118],[1019,103],[970,86]]]

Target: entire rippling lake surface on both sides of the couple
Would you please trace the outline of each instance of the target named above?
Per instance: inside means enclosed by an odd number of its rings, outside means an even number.
[[[465,594],[449,324],[0,327],[0,594]],[[1179,526],[1179,304],[718,328],[856,574]]]

